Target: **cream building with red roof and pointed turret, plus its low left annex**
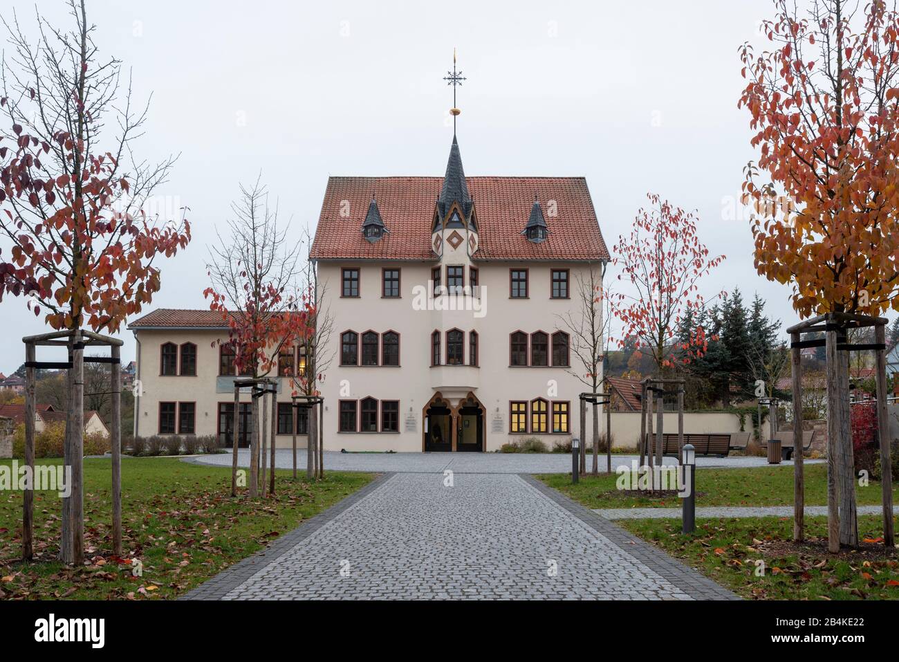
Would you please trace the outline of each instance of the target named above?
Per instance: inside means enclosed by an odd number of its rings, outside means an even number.
[[[580,433],[583,384],[561,319],[581,315],[580,282],[592,272],[601,285],[610,259],[583,177],[467,177],[453,136],[443,177],[330,177],[310,256],[333,329],[325,449],[494,451]],[[218,313],[155,310],[129,329],[136,434],[230,443],[234,365]],[[289,446],[305,421],[280,382]],[[240,402],[245,444],[249,395]]]

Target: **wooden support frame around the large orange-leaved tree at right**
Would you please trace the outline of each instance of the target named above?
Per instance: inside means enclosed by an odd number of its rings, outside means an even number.
[[[827,362],[827,547],[859,546],[856,521],[855,466],[849,412],[849,352],[874,351],[877,381],[877,439],[880,451],[881,500],[884,514],[884,545],[895,545],[893,526],[893,475],[890,462],[889,421],[886,416],[886,318],[855,313],[827,313],[789,327],[793,382],[793,443],[796,451],[793,472],[793,540],[802,541],[805,524],[805,479],[802,458],[802,371],[804,347],[825,347]],[[874,327],[874,343],[850,344],[850,328]],[[806,334],[824,332],[820,338],[803,340]]]

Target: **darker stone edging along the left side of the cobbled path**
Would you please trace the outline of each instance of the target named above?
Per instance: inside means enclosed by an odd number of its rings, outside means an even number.
[[[200,586],[179,596],[178,600],[222,599],[237,586],[253,577],[259,570],[270,563],[274,563],[283,554],[296,547],[300,541],[308,538],[326,523],[329,523],[334,517],[337,517],[361,499],[368,497],[371,492],[384,485],[393,475],[392,472],[380,474],[377,479],[372,480],[365,487],[353,492],[348,497],[344,497],[322,513],[316,514],[314,517],[300,523],[293,531],[280,536],[264,550],[257,551],[255,554],[246,557],[246,559],[237,561],[233,566],[225,568],[215,577],[209,577]]]

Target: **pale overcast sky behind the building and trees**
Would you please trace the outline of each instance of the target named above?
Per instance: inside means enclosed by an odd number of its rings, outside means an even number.
[[[61,0],[40,0],[71,25]],[[15,7],[28,33],[34,4]],[[699,236],[725,263],[706,291],[758,291],[793,323],[788,288],[756,275],[752,234],[734,218],[756,157],[737,48],[761,44],[770,0],[641,2],[288,2],[89,0],[102,52],[153,94],[149,160],[181,153],[159,191],[190,207],[193,240],[162,261],[150,309],[207,308],[204,264],[240,182],[263,180],[314,226],[329,175],[443,174],[452,125],[442,80],[458,49],[458,140],[466,174],[583,175],[607,244],[627,235],[646,192],[699,210]],[[614,277],[614,276],[613,276]],[[0,303],[0,371],[43,322]],[[788,326],[788,325],[785,325]],[[123,332],[123,359],[134,358]]]

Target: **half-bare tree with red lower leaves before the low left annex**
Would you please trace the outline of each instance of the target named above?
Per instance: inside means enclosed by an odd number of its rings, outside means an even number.
[[[224,342],[235,353],[236,373],[259,380],[278,367],[281,348],[292,349],[305,341],[314,309],[299,286],[303,275],[300,244],[289,241],[289,223],[279,227],[277,205],[269,206],[268,192],[259,179],[252,187],[241,185],[231,210],[230,237],[219,235],[218,246],[210,249],[212,285],[203,296],[209,299],[209,309],[218,311],[227,323]],[[261,420],[256,397],[251,412],[248,487],[250,497],[256,497]],[[277,420],[271,420],[271,425],[277,425]],[[272,485],[273,479],[272,473]]]

